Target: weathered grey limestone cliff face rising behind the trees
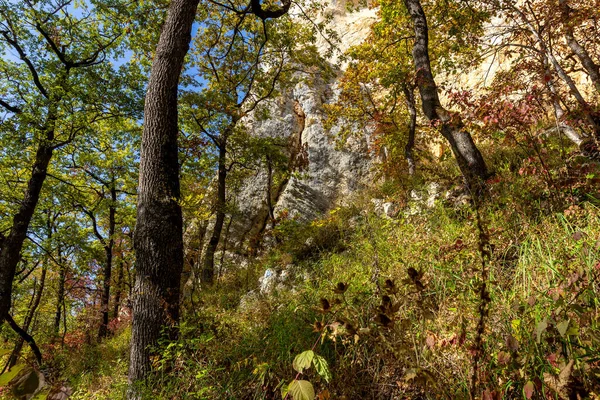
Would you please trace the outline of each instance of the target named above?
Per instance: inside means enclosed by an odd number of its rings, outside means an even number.
[[[341,39],[341,49],[363,41],[376,10],[347,11],[345,0],[332,0],[325,11],[333,16],[332,28]],[[325,53],[327,44],[318,43]],[[330,60],[335,63],[335,58]],[[341,66],[343,69],[344,66]],[[341,76],[342,69],[338,69]],[[267,228],[269,217],[285,213],[310,221],[322,215],[352,193],[365,188],[373,179],[373,160],[369,155],[369,133],[356,132],[344,144],[338,143],[341,127],[327,130],[323,105],[335,101],[337,80],[305,76],[283,96],[267,104],[269,117],[246,121],[257,137],[287,141],[285,152],[294,173],[279,185],[271,185],[269,210],[269,173],[266,165],[248,178],[236,198],[238,212],[234,220],[234,241],[250,243]]]

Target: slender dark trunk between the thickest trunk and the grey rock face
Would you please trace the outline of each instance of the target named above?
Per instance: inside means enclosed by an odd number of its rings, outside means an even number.
[[[204,254],[204,264],[202,267],[201,280],[203,283],[212,285],[214,283],[215,275],[215,252],[219,241],[221,240],[221,232],[223,231],[223,224],[225,223],[225,205],[226,205],[226,183],[227,183],[227,167],[226,163],[226,151],[227,151],[227,136],[224,135],[223,139],[219,143],[219,171],[217,179],[217,203],[216,203],[216,218],[215,226],[213,228],[212,235],[206,246],[206,253]]]

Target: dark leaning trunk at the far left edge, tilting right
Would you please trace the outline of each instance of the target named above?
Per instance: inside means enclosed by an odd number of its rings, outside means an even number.
[[[4,321],[4,316],[8,315],[10,309],[12,284],[17,264],[21,259],[21,249],[23,248],[29,223],[40,198],[40,192],[42,191],[42,186],[48,172],[48,165],[52,158],[52,142],[54,141],[58,112],[56,107],[56,103],[54,103],[48,109],[44,137],[37,147],[35,162],[31,177],[27,183],[25,195],[23,196],[18,212],[13,218],[10,233],[2,242],[2,249],[0,250],[0,321]]]

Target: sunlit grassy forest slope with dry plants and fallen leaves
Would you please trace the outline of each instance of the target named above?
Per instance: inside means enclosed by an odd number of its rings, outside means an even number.
[[[411,200],[456,185],[452,160],[281,222],[276,247],[186,300],[148,398],[600,399],[600,169],[539,154],[489,156],[480,224],[469,202]],[[123,398],[129,335],[57,355],[71,398]]]

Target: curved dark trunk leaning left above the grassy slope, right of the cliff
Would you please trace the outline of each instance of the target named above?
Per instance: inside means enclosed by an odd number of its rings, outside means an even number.
[[[487,167],[471,135],[462,129],[456,115],[450,115],[440,102],[429,60],[429,31],[427,18],[420,0],[404,0],[413,22],[415,42],[413,60],[416,82],[421,94],[423,112],[434,125],[441,125],[442,135],[448,140],[458,166],[469,187],[479,192],[487,177]]]

